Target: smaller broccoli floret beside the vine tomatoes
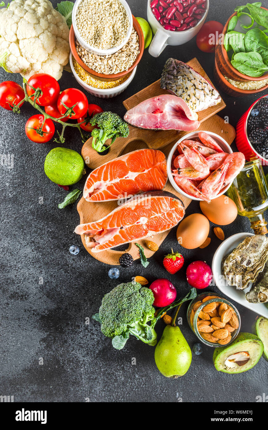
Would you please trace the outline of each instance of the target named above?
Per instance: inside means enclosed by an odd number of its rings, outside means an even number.
[[[129,135],[128,124],[113,112],[101,112],[94,115],[90,120],[92,126],[98,126],[91,132],[92,148],[97,152],[106,151],[104,146],[107,139],[112,139],[111,146],[117,137],[127,137]]]

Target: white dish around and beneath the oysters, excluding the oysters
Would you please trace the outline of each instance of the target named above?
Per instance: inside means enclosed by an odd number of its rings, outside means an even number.
[[[243,242],[246,237],[250,236],[254,236],[254,234],[237,233],[231,237],[228,237],[228,239],[222,242],[222,244],[216,250],[212,261],[213,279],[220,291],[229,298],[242,304],[244,307],[253,310],[253,312],[256,312],[258,315],[268,318],[268,307],[266,306],[267,303],[250,303],[245,297],[245,293],[250,290],[252,284],[250,284],[250,286],[244,290],[236,289],[234,286],[228,285],[227,281],[224,279],[224,275],[222,274],[222,262],[225,257],[230,254],[241,242]]]

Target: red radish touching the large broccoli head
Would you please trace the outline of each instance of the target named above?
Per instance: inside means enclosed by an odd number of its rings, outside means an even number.
[[[160,278],[151,283],[149,289],[152,290],[155,301],[153,305],[156,307],[164,307],[174,302],[177,291],[173,284],[168,279]]]

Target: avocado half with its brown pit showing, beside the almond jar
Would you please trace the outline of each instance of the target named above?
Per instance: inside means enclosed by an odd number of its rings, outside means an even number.
[[[263,353],[263,343],[252,333],[239,333],[226,347],[216,348],[213,363],[219,372],[246,372],[257,364]]]

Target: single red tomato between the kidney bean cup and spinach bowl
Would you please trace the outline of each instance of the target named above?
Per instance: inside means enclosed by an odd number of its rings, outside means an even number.
[[[220,22],[206,22],[196,36],[198,48],[203,52],[214,52],[222,30],[223,25]]]

